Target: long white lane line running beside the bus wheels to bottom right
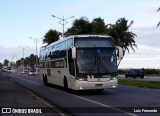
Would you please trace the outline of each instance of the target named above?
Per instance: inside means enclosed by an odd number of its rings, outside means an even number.
[[[18,77],[16,77],[16,78],[18,78]],[[22,78],[19,78],[19,79],[22,79]],[[26,79],[22,79],[22,80],[28,81],[28,82],[31,82],[31,83],[34,83],[34,84],[36,84],[36,85],[43,86],[43,85],[41,85],[41,84],[39,84],[39,83],[36,83],[36,82],[33,82],[33,81],[29,81],[29,80],[26,80]],[[46,87],[46,86],[44,86],[44,87]],[[47,88],[48,88],[48,87],[47,87]],[[54,89],[54,88],[52,88],[52,89]],[[99,103],[99,102],[96,102],[96,101],[93,101],[93,100],[90,100],[90,99],[87,99],[87,98],[84,98],[84,97],[80,97],[80,96],[77,96],[77,95],[73,95],[73,94],[70,94],[70,93],[66,93],[66,92],[63,92],[63,91],[60,91],[60,90],[57,90],[57,89],[54,89],[54,90],[59,91],[59,92],[62,92],[62,93],[65,93],[65,94],[68,94],[68,95],[71,95],[71,96],[74,96],[74,97],[77,97],[77,98],[80,98],[80,99],[83,99],[83,100],[86,100],[86,101],[89,101],[89,102],[92,102],[92,103],[95,103],[95,104],[98,104],[98,105],[101,105],[101,106],[103,106],[103,107],[111,108],[111,109],[113,109],[113,110],[116,110],[116,111],[119,111],[119,112],[128,114],[128,115],[130,115],[130,116],[138,116],[138,115],[136,115],[136,114],[129,113],[129,112],[123,111],[123,110],[121,110],[121,109],[114,108],[114,107],[112,107],[112,106],[109,106],[109,105],[106,105],[106,104],[102,104],[102,103]]]

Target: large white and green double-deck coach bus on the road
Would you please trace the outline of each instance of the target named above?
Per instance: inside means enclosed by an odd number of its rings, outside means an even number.
[[[40,49],[40,75],[48,83],[73,90],[116,88],[117,54],[110,36],[73,35]]]

